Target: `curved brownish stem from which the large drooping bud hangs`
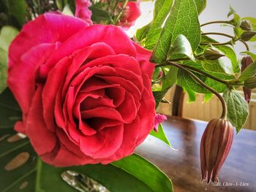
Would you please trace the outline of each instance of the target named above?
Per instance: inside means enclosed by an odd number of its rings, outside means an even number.
[[[170,64],[172,66],[176,66],[177,68],[184,70],[194,80],[199,82],[200,85],[203,86],[203,88],[206,88],[208,91],[211,91],[211,93],[214,93],[214,95],[216,95],[219,98],[220,102],[222,103],[222,115],[220,116],[220,118],[227,118],[227,105],[226,105],[225,100],[223,99],[223,97],[217,91],[215,91],[213,88],[211,88],[208,85],[206,85],[206,83],[204,83],[202,80],[200,80],[200,78],[198,78],[194,73],[190,72],[188,69],[184,68],[183,66],[181,66],[179,64],[175,64],[175,63],[170,63]]]

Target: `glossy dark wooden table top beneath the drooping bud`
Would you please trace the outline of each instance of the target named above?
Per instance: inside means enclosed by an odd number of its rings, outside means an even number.
[[[200,139],[206,122],[169,117],[163,127],[178,151],[150,136],[136,152],[171,178],[175,192],[256,191],[256,131],[242,129],[235,134],[230,154],[219,172],[221,186],[214,186],[200,181]]]

